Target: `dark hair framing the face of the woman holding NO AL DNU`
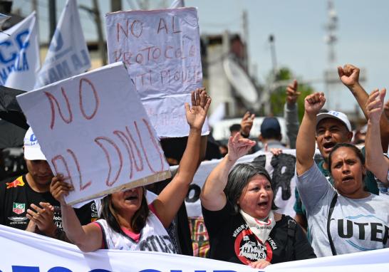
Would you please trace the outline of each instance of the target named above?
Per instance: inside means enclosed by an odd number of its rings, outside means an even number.
[[[131,228],[134,232],[139,233],[146,224],[147,216],[149,215],[149,206],[145,196],[145,188],[143,188],[142,202],[138,211],[135,211],[133,219],[131,219]],[[118,222],[118,211],[112,204],[112,194],[104,197],[101,201],[100,219],[105,219],[108,225],[116,232],[123,233]]]

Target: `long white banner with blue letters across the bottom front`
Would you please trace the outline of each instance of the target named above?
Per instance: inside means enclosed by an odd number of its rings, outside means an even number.
[[[83,253],[72,244],[1,225],[0,244],[0,272],[387,272],[389,267],[389,249],[278,263],[264,270],[150,251]]]

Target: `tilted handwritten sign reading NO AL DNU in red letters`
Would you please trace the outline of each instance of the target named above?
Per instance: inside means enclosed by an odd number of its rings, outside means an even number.
[[[17,97],[54,173],[76,204],[170,177],[155,131],[123,63]]]

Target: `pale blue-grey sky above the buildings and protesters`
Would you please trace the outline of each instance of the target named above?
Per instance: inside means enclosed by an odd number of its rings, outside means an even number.
[[[48,1],[38,0],[41,41],[48,41]],[[172,0],[149,0],[152,6]],[[57,0],[57,19],[65,0]],[[101,17],[110,10],[110,1],[98,1]],[[135,0],[123,0],[123,10],[131,8]],[[78,0],[78,4],[91,6],[91,0]],[[265,83],[272,69],[269,35],[275,37],[278,67],[291,69],[300,80],[322,80],[324,70],[352,63],[363,68],[363,86],[370,92],[374,88],[389,87],[389,1],[386,0],[334,0],[338,16],[336,62],[330,67],[328,47],[324,41],[328,21],[328,1],[325,0],[186,0],[186,6],[198,8],[201,34],[223,31],[243,33],[242,11],[248,14],[248,41],[250,73],[259,83]],[[31,1],[16,0],[14,8],[21,13],[31,12]],[[83,33],[87,41],[95,41],[93,20],[80,11]],[[105,27],[105,26],[104,26]],[[317,91],[326,89],[323,83],[312,84]],[[342,85],[331,87],[331,108],[350,110],[354,99]],[[387,95],[385,100],[389,99]]]

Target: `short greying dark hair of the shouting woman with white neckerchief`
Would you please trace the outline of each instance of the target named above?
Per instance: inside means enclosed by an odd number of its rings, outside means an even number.
[[[231,172],[229,172],[227,185],[224,188],[224,194],[226,194],[227,201],[231,202],[232,206],[234,207],[235,214],[239,212],[239,205],[237,203],[239,198],[242,196],[242,193],[247,184],[249,184],[250,179],[256,174],[261,174],[262,176],[266,177],[266,179],[268,179],[271,184],[271,190],[273,193],[275,192],[274,182],[271,182],[271,177],[266,169],[264,169],[264,167],[253,163],[242,163],[235,165]],[[278,207],[276,204],[274,204],[274,197],[271,202],[271,209],[276,210]]]

